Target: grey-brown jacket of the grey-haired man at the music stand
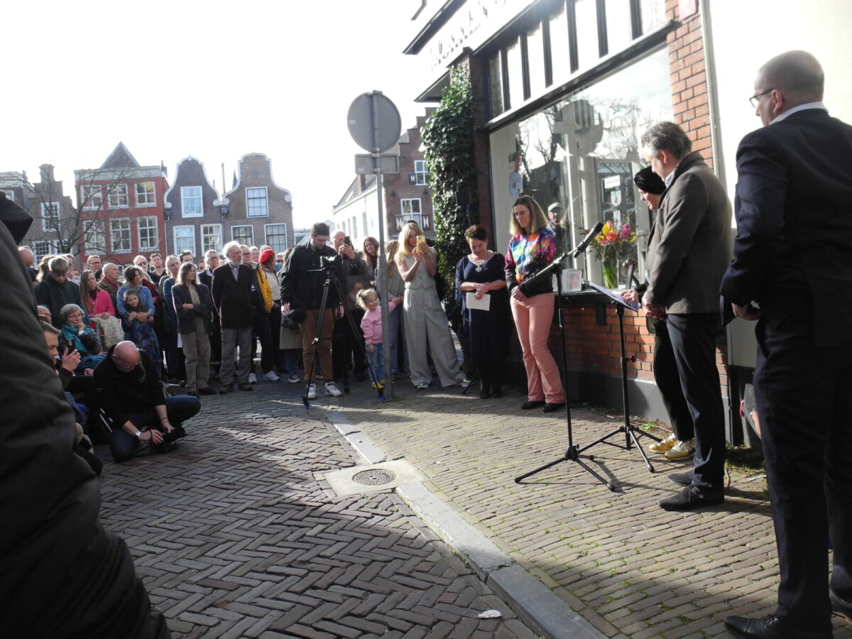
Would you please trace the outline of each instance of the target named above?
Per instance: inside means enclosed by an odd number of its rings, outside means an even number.
[[[701,154],[689,153],[660,202],[648,242],[644,300],[672,314],[718,313],[730,260],[731,203]]]

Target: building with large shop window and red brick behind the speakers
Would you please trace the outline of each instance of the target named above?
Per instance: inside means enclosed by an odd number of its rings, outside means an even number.
[[[463,66],[474,92],[480,222],[496,250],[509,239],[512,203],[533,196],[546,210],[558,203],[576,241],[596,222],[636,228],[637,273],[652,219],[632,176],[645,164],[639,138],[649,124],[682,124],[714,166],[702,14],[678,0],[468,0],[415,16],[406,53],[428,56],[419,101],[440,100],[449,70]],[[603,284],[591,252],[573,268]],[[621,273],[621,287],[627,284]],[[570,302],[570,303],[568,303]],[[572,400],[620,406],[618,323],[595,291],[565,295],[568,391]],[[625,317],[631,412],[667,419],[653,383],[653,337],[642,314]],[[554,324],[551,349],[559,353]],[[741,433],[738,385],[729,383],[727,345],[718,344],[728,433]],[[561,360],[557,356],[557,360]],[[521,366],[513,370],[522,376]]]

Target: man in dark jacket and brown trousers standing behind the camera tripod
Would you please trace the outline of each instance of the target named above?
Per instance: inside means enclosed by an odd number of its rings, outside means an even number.
[[[328,225],[317,222],[311,227],[311,239],[308,244],[296,246],[285,264],[281,278],[281,312],[302,325],[302,357],[305,362],[305,379],[308,381],[308,400],[315,400],[317,385],[314,376],[314,338],[320,325],[320,306],[322,305],[323,286],[328,277],[345,280],[343,260],[337,252],[326,245],[329,236]],[[334,380],[331,366],[331,333],[334,329],[332,308],[340,306],[343,300],[337,299],[337,291],[329,287],[322,314],[320,339],[316,350],[320,357],[320,366],[326,376],[325,394],[340,397],[342,394]],[[340,308],[341,313],[343,307]],[[291,316],[292,314],[292,316]]]

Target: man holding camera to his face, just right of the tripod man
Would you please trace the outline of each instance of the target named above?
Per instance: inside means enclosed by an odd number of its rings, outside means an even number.
[[[370,272],[360,252],[354,250],[352,242],[343,231],[334,234],[334,250],[343,260],[343,273],[346,280],[341,281],[346,300],[343,301],[344,312],[352,317],[352,324],[345,315],[338,317],[334,323],[334,335],[331,340],[332,364],[334,378],[343,379],[346,369],[353,363],[355,379],[363,382],[366,379],[367,363],[360,345],[364,343],[364,333],[361,332],[361,320],[364,311],[358,306],[356,296],[358,291],[370,288]],[[354,325],[354,332],[353,332]]]

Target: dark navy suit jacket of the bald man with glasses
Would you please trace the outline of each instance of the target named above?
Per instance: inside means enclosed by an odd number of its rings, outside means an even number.
[[[852,126],[807,109],[737,150],[737,237],[722,295],[780,326],[808,304],[817,346],[852,344]]]

